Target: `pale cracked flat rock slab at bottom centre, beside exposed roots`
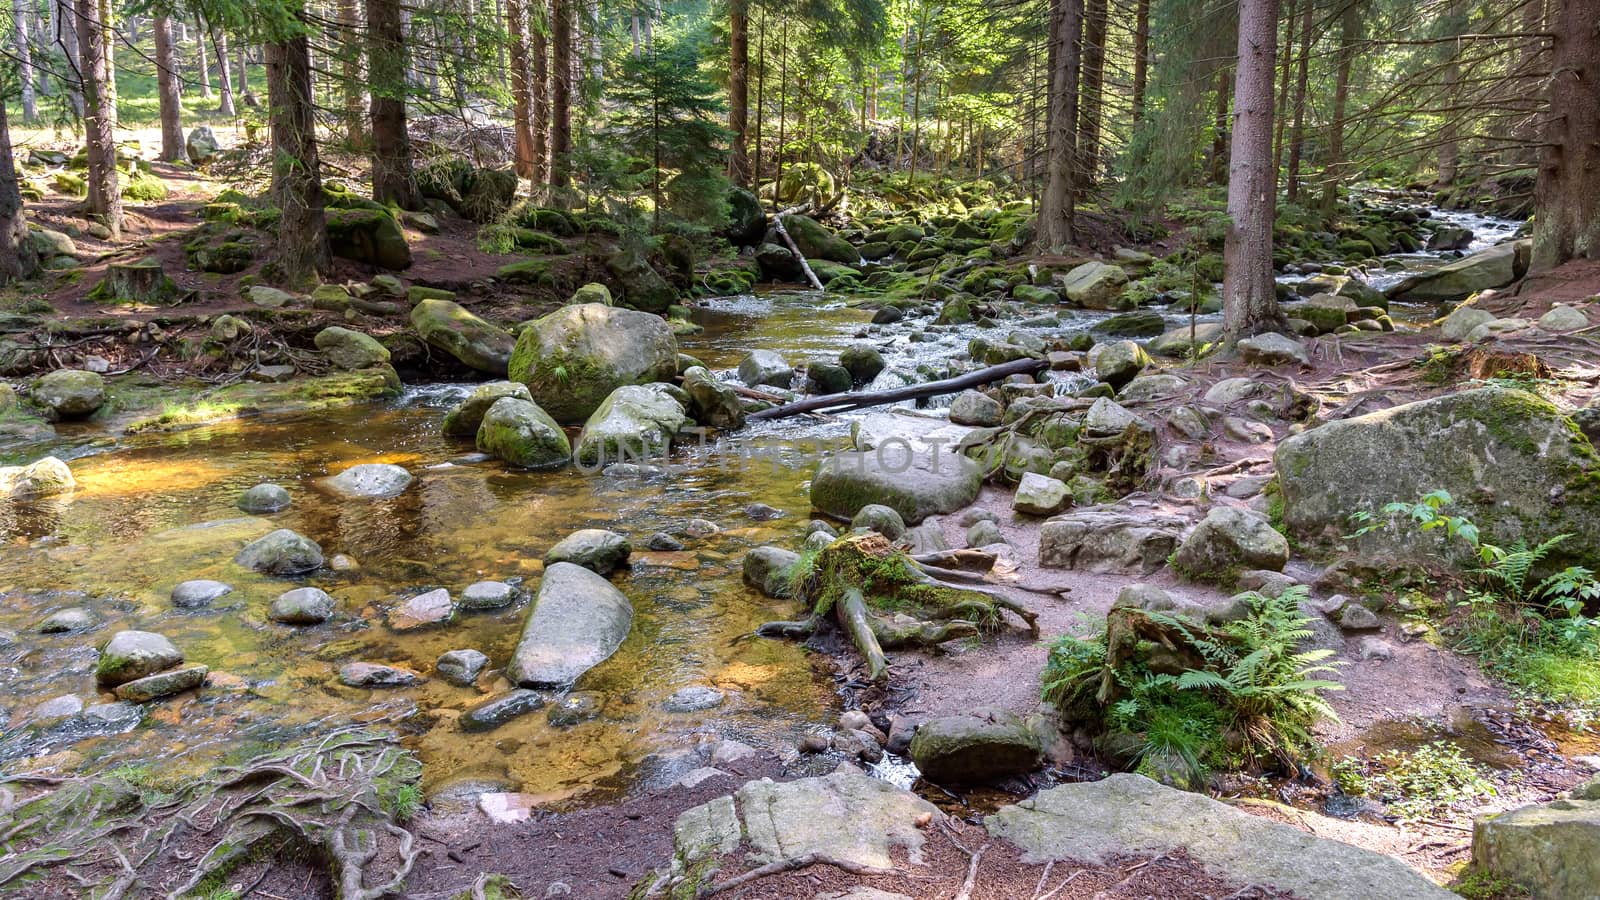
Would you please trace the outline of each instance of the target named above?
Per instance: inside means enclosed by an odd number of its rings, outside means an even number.
[[[731,798],[683,812],[674,825],[674,842],[685,862],[747,844],[755,863],[822,854],[888,868],[896,850],[904,850],[920,865],[923,830],[917,820],[939,815],[917,794],[867,775],[835,772],[782,783],[763,778]]]

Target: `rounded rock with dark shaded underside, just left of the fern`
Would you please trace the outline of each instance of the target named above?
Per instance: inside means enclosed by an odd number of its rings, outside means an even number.
[[[936,785],[1021,775],[1037,769],[1043,756],[1034,729],[1005,709],[931,719],[910,740],[912,761]]]

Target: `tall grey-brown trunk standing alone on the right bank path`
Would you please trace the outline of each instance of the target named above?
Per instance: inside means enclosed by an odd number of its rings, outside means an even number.
[[[1234,136],[1227,173],[1227,240],[1222,248],[1222,331],[1229,343],[1283,327],[1272,283],[1272,75],[1278,2],[1240,0]]]

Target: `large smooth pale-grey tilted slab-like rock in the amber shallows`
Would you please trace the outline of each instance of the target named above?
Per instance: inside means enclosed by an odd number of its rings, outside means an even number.
[[[557,562],[539,594],[506,677],[523,687],[566,687],[616,652],[634,626],[634,605],[594,572]]]

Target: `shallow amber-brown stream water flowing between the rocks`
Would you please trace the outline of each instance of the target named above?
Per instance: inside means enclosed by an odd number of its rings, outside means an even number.
[[[1490,224],[1480,234],[1494,234]],[[890,364],[877,386],[893,386],[944,375],[981,333],[1053,336],[1106,315],[1050,312],[1058,323],[928,328],[912,340],[910,328],[869,330],[866,312],[834,296],[722,298],[696,311],[704,331],[683,349],[725,372],[752,348],[800,362],[867,340]],[[1189,320],[1168,319],[1173,327]],[[418,386],[379,407],[171,434],[114,439],[94,426],[62,426],[48,448],[30,447],[29,460],[45,452],[69,460],[78,488],[64,498],[0,503],[0,765],[98,770],[157,761],[168,775],[197,773],[336,725],[389,722],[421,753],[429,788],[469,780],[578,802],[629,788],[702,735],[787,746],[834,717],[834,684],[805,650],[747,637],[757,623],[797,610],[746,588],[741,560],[752,546],[800,543],[806,479],[819,456],[848,442],[846,421],[763,423],[677,450],[670,469],[654,476],[522,472],[440,434],[445,410],[467,389]],[[395,463],[416,482],[394,500],[341,500],[318,487],[357,463]],[[275,516],[240,514],[238,495],[264,480],[288,487],[293,506]],[[752,503],[786,517],[752,519],[744,512]],[[690,519],[722,530],[685,540],[686,551],[638,549],[653,532],[682,532]],[[635,543],[632,569],[614,577],[635,607],[632,634],[576,685],[602,698],[597,717],[557,727],[530,714],[494,732],[466,733],[456,716],[483,697],[480,690],[440,679],[389,690],[338,682],[347,661],[426,674],[442,652],[466,647],[502,665],[526,597],[424,631],[397,633],[386,613],[421,591],[459,594],[478,580],[534,588],[544,551],[586,527],[621,530]],[[262,578],[232,557],[274,528],[294,528],[326,554],[357,560],[354,572],[325,570],[302,581],[338,599],[330,625],[266,620],[270,601],[298,583]],[[173,609],[171,588],[190,578],[216,578],[234,593],[211,609]],[[88,609],[94,628],[34,633],[67,607]],[[126,705],[96,708],[112,698],[94,687],[94,645],[122,628],[171,637],[189,663],[211,666],[211,684],[136,713]],[[707,685],[725,693],[720,706],[662,709],[677,690]],[[53,756],[42,761],[45,754]],[[910,778],[914,770],[885,775]]]

